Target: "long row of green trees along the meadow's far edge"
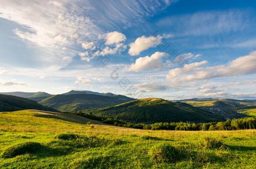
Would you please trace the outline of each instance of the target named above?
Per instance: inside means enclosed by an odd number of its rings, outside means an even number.
[[[180,131],[214,131],[214,130],[242,130],[256,129],[256,118],[247,117],[243,119],[229,119],[227,121],[209,122],[209,123],[186,123],[186,122],[160,122],[154,124],[134,124],[112,119],[106,116],[95,116],[93,114],[84,114],[78,111],[77,114],[88,119],[102,121],[105,124],[112,124],[120,127],[146,129],[146,130],[180,130]]]

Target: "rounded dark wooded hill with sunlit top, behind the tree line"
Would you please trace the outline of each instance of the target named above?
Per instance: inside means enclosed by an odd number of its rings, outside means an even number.
[[[87,114],[107,116],[132,123],[156,122],[209,122],[224,120],[221,116],[186,103],[146,98],[127,103],[83,111]]]

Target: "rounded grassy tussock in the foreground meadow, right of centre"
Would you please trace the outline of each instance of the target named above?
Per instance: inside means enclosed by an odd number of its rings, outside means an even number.
[[[173,163],[182,158],[181,152],[170,144],[157,144],[149,150],[149,155],[154,162]]]

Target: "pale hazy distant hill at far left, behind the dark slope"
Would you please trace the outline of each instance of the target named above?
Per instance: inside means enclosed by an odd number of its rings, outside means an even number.
[[[17,96],[17,97],[24,97],[24,98],[34,98],[34,97],[50,97],[52,96],[49,93],[45,92],[3,92],[0,94],[5,94],[5,95],[11,95],[11,96]]]

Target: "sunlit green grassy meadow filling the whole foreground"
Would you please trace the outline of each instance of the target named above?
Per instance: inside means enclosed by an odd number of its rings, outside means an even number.
[[[87,125],[80,118],[33,110],[0,113],[0,168],[256,166],[256,130],[149,131]]]

